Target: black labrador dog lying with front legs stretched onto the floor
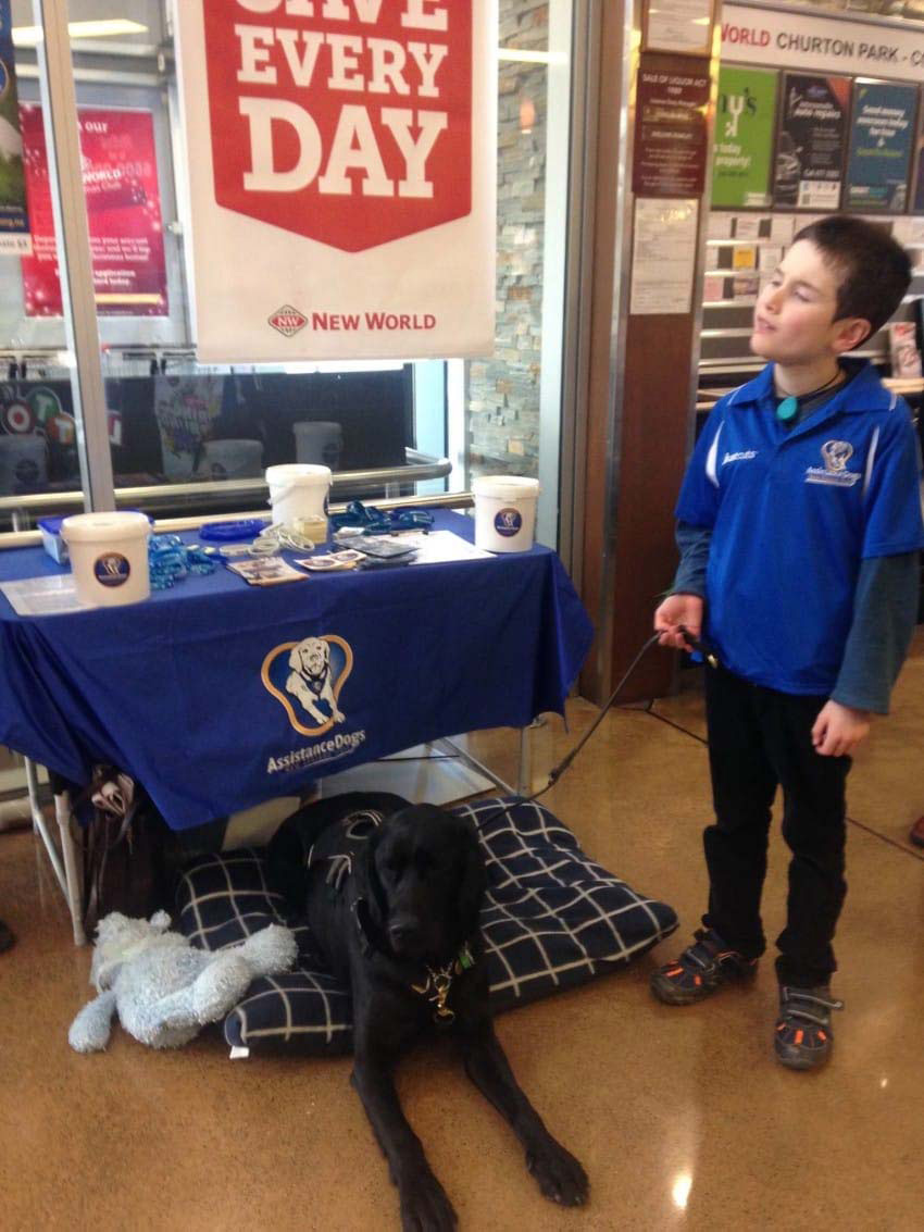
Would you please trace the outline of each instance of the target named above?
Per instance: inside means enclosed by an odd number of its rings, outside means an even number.
[[[485,875],[471,822],[386,792],[349,792],[291,818],[270,856],[287,893],[304,894],[314,939],[352,992],[352,1084],[398,1186],[405,1232],[456,1226],[394,1085],[399,1056],[428,1032],[457,1045],[546,1198],[582,1205],[584,1169],[542,1124],[494,1034],[479,929]]]

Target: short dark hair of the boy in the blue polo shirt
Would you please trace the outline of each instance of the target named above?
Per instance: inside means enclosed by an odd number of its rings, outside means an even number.
[[[829,214],[803,227],[793,239],[807,239],[838,275],[834,320],[862,317],[881,329],[902,302],[912,281],[912,262],[902,245],[881,225],[851,214]]]

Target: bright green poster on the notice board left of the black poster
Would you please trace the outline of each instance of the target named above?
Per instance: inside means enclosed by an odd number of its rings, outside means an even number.
[[[761,69],[719,69],[713,209],[760,209],[770,205],[776,78],[776,73]]]

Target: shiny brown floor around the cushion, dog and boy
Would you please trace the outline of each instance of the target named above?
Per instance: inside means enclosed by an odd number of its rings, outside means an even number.
[[[496,1114],[442,1047],[400,1073],[409,1117],[462,1230],[917,1230],[924,1142],[924,633],[850,782],[850,891],[838,938],[837,1052],[818,1074],[771,1057],[775,984],[691,1009],[647,977],[696,925],[708,817],[695,674],[679,697],[607,716],[547,802],[602,864],[673,903],[681,934],[621,975],[506,1014],[498,1032],[549,1127],[584,1162],[591,1201],[549,1206]],[[575,702],[533,731],[535,785],[593,721]],[[473,742],[514,777],[513,733]],[[782,922],[774,835],[765,915]],[[28,833],[0,835],[0,1227],[12,1230],[397,1228],[397,1201],[347,1060],[230,1062],[219,1040],[71,1052],[89,952]],[[685,944],[685,942],[684,942]]]

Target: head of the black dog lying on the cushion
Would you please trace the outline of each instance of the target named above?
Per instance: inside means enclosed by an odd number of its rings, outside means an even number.
[[[476,935],[485,877],[467,818],[413,804],[386,818],[363,856],[368,923],[395,957],[446,962]]]

